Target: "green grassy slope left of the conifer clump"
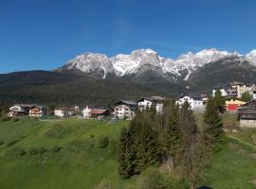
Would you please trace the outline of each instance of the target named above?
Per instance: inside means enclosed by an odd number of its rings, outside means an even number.
[[[51,130],[60,124],[63,129],[57,129],[56,133]],[[1,123],[1,140],[6,144],[0,147],[0,172],[5,173],[1,174],[0,188],[92,188],[102,179],[111,180],[120,188],[126,182],[118,176],[112,150],[114,143],[99,148],[98,137],[106,135],[112,141],[118,137],[119,129],[126,125],[127,122],[107,125],[100,121],[76,120]],[[48,133],[53,134],[48,136]],[[25,138],[7,147],[10,141],[20,136]],[[55,145],[63,149],[52,153],[50,149]],[[28,150],[30,146],[43,146],[48,151],[42,156],[16,155],[20,148]]]

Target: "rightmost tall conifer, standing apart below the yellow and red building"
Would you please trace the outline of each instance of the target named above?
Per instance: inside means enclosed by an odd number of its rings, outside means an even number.
[[[209,97],[206,112],[204,115],[204,122],[206,124],[205,133],[208,137],[208,143],[216,149],[223,138],[223,125],[221,117],[217,111],[216,104],[212,97]]]

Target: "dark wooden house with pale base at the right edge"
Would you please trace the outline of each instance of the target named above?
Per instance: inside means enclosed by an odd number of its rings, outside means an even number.
[[[240,128],[256,128],[256,98],[238,107],[237,111]]]

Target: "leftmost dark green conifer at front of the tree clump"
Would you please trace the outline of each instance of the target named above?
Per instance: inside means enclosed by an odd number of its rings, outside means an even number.
[[[134,150],[131,134],[127,129],[121,130],[119,140],[119,175],[123,179],[135,174],[136,152]]]

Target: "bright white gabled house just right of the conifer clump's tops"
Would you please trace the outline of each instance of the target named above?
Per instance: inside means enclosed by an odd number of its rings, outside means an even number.
[[[188,102],[191,105],[193,111],[204,111],[205,105],[200,95],[196,94],[183,94],[176,100],[178,106],[182,106],[184,102]]]

